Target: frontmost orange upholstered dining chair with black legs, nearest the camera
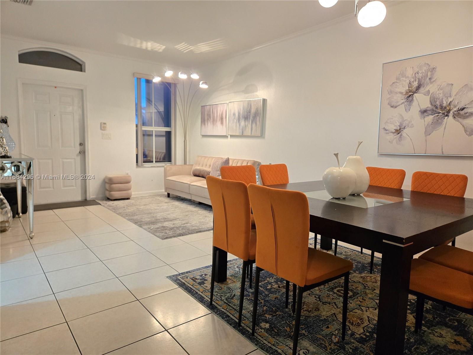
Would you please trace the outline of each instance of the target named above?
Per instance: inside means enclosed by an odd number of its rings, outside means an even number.
[[[256,220],[256,275],[254,281],[253,325],[256,327],[261,270],[298,285],[292,354],[297,352],[302,294],[317,286],[344,277],[342,340],[345,338],[348,282],[353,264],[324,251],[309,248],[309,204],[302,192],[251,184],[250,203]]]

